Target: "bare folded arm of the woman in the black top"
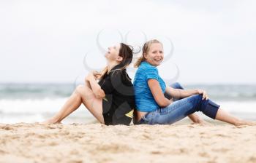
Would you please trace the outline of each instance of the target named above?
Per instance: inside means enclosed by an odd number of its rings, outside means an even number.
[[[89,82],[89,85],[91,86],[91,90],[94,93],[96,98],[104,98],[105,97],[105,92],[104,92],[104,90],[102,90],[102,88],[96,81],[93,73],[89,73],[88,76],[86,76],[86,81]]]

